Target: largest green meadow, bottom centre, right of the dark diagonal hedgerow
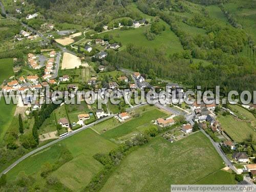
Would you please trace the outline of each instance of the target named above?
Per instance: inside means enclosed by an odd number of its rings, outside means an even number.
[[[201,132],[175,143],[157,137],[124,158],[101,191],[169,191],[170,184],[193,184],[222,167]]]

